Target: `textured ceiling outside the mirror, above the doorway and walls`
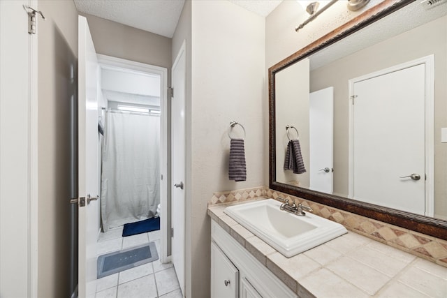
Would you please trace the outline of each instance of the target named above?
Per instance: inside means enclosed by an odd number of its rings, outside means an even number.
[[[172,38],[184,0],[74,0],[81,13]],[[263,17],[282,0],[229,0]]]

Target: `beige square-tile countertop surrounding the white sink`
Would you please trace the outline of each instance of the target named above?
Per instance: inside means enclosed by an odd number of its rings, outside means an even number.
[[[299,297],[447,297],[446,267],[351,231],[286,258],[224,214],[228,205],[207,213]]]

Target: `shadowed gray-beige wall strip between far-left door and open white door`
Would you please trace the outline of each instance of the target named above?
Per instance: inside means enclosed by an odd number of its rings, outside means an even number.
[[[39,0],[38,9],[47,18],[38,28],[38,297],[69,297],[78,13],[73,1]]]

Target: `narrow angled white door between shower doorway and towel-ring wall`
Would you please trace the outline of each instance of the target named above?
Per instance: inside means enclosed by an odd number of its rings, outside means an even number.
[[[186,57],[183,43],[173,65],[173,98],[172,98],[172,134],[171,134],[171,217],[173,223],[172,260],[184,293],[184,259],[185,259],[185,80]]]

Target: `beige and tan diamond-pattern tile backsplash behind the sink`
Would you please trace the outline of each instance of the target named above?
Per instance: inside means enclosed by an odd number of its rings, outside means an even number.
[[[316,202],[302,200],[293,195],[273,191],[264,186],[214,193],[209,204],[243,202],[245,200],[264,197],[277,199],[279,196],[288,198],[288,200],[295,200],[296,204],[301,203],[312,207],[314,209],[312,213],[328,218],[331,221],[336,221],[344,225],[348,230],[447,267],[447,241],[445,240],[420,234],[412,230],[406,230],[395,225],[376,221]]]

